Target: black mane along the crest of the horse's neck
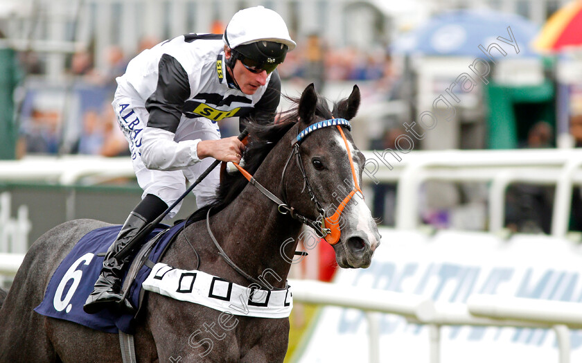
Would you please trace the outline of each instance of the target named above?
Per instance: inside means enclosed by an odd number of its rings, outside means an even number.
[[[276,143],[299,121],[299,98],[283,97],[290,100],[294,106],[288,111],[281,113],[277,123],[261,125],[252,119],[245,123],[245,127],[249,131],[250,141],[245,148],[243,159],[245,159],[245,170],[251,175],[254,175]],[[334,105],[334,110],[336,108],[337,104]],[[323,96],[317,96],[315,114],[323,118],[332,117],[327,100]],[[206,218],[206,213],[210,208],[212,209],[211,214],[218,213],[238,197],[247,183],[247,179],[240,172],[233,174],[225,172],[224,178],[220,181],[220,185],[217,188],[213,202],[195,211],[188,218],[188,222],[196,222],[197,220]]]

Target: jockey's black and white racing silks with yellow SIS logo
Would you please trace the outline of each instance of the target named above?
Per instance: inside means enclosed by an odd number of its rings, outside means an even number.
[[[125,74],[117,78],[113,105],[130,139],[132,157],[138,155],[150,169],[178,170],[199,161],[200,139],[179,135],[191,128],[185,123],[210,121],[220,137],[216,123],[223,118],[273,121],[281,96],[279,73],[270,73],[265,86],[246,95],[233,85],[225,61],[222,35],[213,34],[181,35],[131,60]],[[129,127],[132,116],[128,118],[130,111],[123,108],[127,99],[143,130]]]

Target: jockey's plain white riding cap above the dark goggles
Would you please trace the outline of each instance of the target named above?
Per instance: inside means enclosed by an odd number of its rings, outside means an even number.
[[[263,6],[236,12],[224,30],[222,40],[230,48],[259,40],[285,44],[290,51],[297,45],[291,39],[281,15]]]

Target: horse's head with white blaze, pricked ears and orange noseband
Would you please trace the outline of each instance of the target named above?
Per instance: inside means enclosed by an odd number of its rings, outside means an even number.
[[[303,91],[294,150],[297,165],[303,168],[297,167],[297,172],[305,182],[285,186],[296,189],[294,193],[286,191],[290,205],[319,222],[325,220],[317,233],[333,245],[337,264],[344,268],[368,267],[373,251],[380,245],[380,233],[360,189],[364,154],[349,132],[348,121],[359,106],[357,86],[349,98],[335,104],[333,112],[328,110],[326,100],[317,96],[313,85]],[[340,126],[321,123],[328,120]],[[291,200],[292,195],[297,200]]]

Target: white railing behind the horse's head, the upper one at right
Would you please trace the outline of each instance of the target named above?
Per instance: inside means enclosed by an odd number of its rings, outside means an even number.
[[[364,181],[396,182],[396,228],[419,225],[419,191],[427,180],[489,182],[489,231],[503,227],[504,197],[512,182],[556,185],[552,236],[567,233],[572,187],[582,184],[582,150],[446,150],[398,152],[366,151]]]

